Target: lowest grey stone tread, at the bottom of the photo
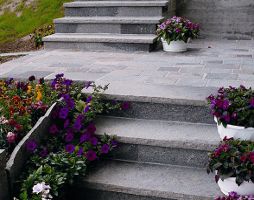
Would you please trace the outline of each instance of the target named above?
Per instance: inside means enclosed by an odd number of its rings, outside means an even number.
[[[90,189],[179,200],[212,200],[221,195],[213,175],[207,175],[205,169],[173,165],[103,161],[80,184]]]

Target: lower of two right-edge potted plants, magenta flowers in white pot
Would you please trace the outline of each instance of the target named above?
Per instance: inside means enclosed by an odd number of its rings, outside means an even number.
[[[224,139],[209,153],[207,172],[214,172],[221,191],[254,195],[254,142]]]

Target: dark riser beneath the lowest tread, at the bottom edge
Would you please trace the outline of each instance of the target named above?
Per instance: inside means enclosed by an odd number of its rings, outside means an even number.
[[[78,192],[77,192],[78,191]],[[127,193],[118,193],[112,191],[101,191],[87,188],[78,188],[76,192],[72,192],[72,194],[76,194],[73,200],[175,200],[175,199],[165,199],[159,197],[145,197],[138,196]]]

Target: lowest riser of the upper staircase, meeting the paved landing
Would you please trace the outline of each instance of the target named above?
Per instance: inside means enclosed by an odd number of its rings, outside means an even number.
[[[83,51],[151,51],[154,46],[151,44],[135,43],[86,43],[86,42],[44,42],[46,49],[72,49]]]

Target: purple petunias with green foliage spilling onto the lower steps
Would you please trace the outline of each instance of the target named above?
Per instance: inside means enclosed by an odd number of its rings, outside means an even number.
[[[62,74],[56,75],[51,87],[59,92],[61,101],[52,111],[52,123],[45,140],[40,141],[40,145],[33,140],[26,143],[27,150],[33,156],[29,161],[28,174],[24,175],[28,178],[21,181],[20,200],[33,197],[29,193],[31,177],[34,183],[44,181],[49,184],[52,197],[61,199],[59,191],[63,187],[72,184],[76,176],[85,174],[90,162],[107,155],[117,146],[114,136],[95,134],[94,120],[97,115],[115,109],[125,110],[130,106],[129,103],[121,105],[102,101],[102,92],[107,86],[96,86],[92,82],[86,82],[85,88],[92,87],[93,92],[82,94],[79,87],[75,87],[71,80],[64,79]],[[61,181],[59,176],[63,177]]]

